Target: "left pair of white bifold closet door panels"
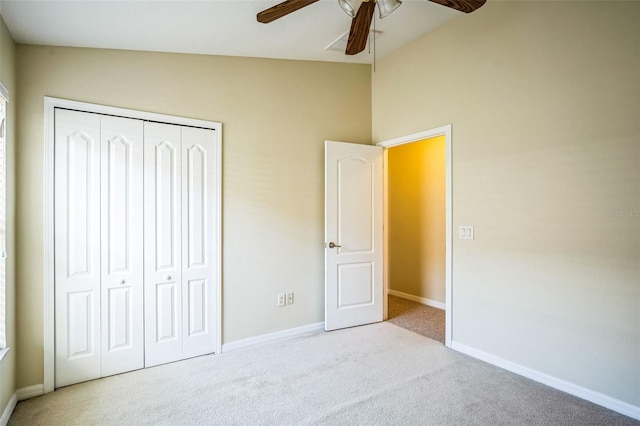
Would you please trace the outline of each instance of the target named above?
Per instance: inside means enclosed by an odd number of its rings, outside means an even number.
[[[55,386],[144,364],[142,122],[55,112]]]

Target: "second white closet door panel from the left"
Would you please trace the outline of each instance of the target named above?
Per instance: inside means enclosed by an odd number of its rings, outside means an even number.
[[[144,367],[143,122],[103,116],[102,375]]]

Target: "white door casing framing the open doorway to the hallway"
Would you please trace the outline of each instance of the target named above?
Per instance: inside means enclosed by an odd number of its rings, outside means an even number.
[[[446,237],[445,237],[445,345],[451,347],[453,340],[453,180],[452,180],[452,157],[451,157],[451,124],[436,127],[419,133],[413,133],[407,136],[378,142],[376,145],[385,148],[384,155],[384,199],[388,200],[388,162],[386,149],[394,146],[404,145],[412,142],[419,142],[437,136],[445,137],[446,145],[446,165],[445,165],[445,217],[446,217]],[[384,205],[384,229],[389,229],[389,212],[388,203]],[[389,294],[389,235],[384,232],[384,319],[388,318],[388,294]]]

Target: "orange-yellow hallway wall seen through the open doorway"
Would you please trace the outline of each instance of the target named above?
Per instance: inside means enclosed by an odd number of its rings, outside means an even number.
[[[390,148],[389,288],[445,303],[446,138]]]

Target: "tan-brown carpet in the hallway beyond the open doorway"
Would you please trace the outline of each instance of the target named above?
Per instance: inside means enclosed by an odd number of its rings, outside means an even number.
[[[387,300],[390,322],[444,343],[444,310],[391,295]]]

